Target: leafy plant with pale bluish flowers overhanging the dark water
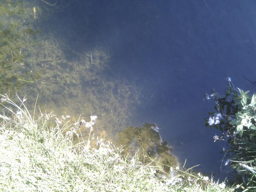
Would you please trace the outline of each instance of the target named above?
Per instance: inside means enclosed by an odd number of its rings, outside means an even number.
[[[225,97],[217,93],[206,94],[214,98],[217,112],[210,112],[206,124],[222,131],[214,141],[225,140],[225,165],[233,167],[238,191],[256,191],[256,94],[235,89],[227,77],[229,88]]]

